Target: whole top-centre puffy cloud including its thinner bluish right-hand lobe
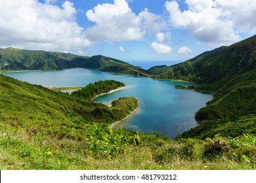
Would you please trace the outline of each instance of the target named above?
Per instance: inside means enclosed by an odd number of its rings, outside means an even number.
[[[161,16],[149,12],[147,8],[137,15],[125,0],[98,4],[88,10],[86,16],[95,23],[86,29],[86,35],[92,41],[141,41],[146,33],[155,34],[165,27]]]

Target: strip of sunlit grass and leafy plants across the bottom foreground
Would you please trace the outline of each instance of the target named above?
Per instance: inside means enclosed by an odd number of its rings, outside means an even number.
[[[53,126],[59,128],[58,125]],[[179,139],[90,124],[83,139],[1,125],[1,169],[255,169],[255,137]],[[74,132],[73,132],[74,133]]]

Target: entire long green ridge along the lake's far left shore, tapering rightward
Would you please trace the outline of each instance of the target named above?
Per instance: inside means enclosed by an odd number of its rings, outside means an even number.
[[[102,69],[102,71],[150,76],[140,67],[135,67],[118,59],[105,56],[76,56],[60,52],[45,52],[34,50],[20,50],[16,48],[0,49],[0,71],[21,70],[56,70],[74,67],[89,67]],[[113,68],[122,68],[119,69]]]

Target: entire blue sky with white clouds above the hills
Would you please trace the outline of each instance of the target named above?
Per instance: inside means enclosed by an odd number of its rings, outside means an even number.
[[[0,0],[0,48],[172,65],[256,33],[253,0]]]

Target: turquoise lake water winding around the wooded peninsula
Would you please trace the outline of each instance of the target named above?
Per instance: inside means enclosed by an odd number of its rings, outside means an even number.
[[[98,80],[111,79],[124,82],[127,86],[125,90],[102,95],[95,101],[108,104],[119,97],[136,97],[140,101],[139,110],[121,124],[123,128],[144,133],[158,131],[171,139],[196,127],[199,124],[194,118],[196,111],[212,99],[209,93],[174,88],[177,84],[187,86],[184,82],[102,73],[97,69],[75,68],[4,75],[45,87],[85,86]]]

